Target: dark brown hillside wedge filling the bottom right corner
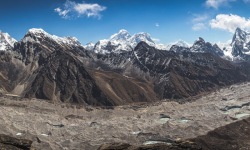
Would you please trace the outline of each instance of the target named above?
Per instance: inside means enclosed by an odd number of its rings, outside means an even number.
[[[250,118],[219,127],[192,139],[203,150],[239,150],[250,147]]]

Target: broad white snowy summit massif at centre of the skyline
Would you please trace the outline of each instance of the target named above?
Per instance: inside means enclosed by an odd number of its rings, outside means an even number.
[[[123,51],[132,51],[139,42],[146,42],[148,45],[164,49],[162,44],[156,44],[148,33],[141,32],[134,35],[130,35],[127,30],[120,30],[118,33],[113,34],[109,39],[98,41],[93,49],[89,49],[91,46],[86,45],[88,50],[94,50],[96,53],[121,53]]]

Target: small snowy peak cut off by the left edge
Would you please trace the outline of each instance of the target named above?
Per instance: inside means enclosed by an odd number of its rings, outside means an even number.
[[[8,33],[0,31],[0,51],[11,50],[16,42]]]

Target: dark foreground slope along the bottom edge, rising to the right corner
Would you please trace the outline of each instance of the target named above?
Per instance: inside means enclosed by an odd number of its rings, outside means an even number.
[[[188,141],[172,141],[171,144],[133,146],[126,143],[103,144],[98,150],[239,150],[250,147],[250,118],[219,127],[206,135]]]

